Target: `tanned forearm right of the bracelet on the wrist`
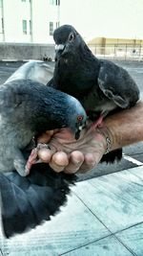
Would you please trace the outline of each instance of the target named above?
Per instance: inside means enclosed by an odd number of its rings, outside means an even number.
[[[112,141],[111,151],[143,141],[143,103],[109,116],[104,124]]]

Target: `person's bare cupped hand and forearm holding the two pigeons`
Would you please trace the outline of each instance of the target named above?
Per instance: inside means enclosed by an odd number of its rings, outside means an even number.
[[[90,125],[78,141],[69,129],[51,130],[39,137],[49,143],[51,151],[42,149],[38,156],[50,163],[55,172],[84,173],[95,167],[107,149],[106,137],[111,139],[111,151],[143,140],[143,103],[107,117],[101,127]]]

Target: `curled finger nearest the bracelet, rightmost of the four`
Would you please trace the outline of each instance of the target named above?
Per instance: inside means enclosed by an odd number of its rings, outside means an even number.
[[[96,157],[92,153],[87,153],[85,155],[84,162],[79,169],[79,173],[82,173],[82,174],[87,173],[88,171],[95,168],[96,164],[97,164]]]

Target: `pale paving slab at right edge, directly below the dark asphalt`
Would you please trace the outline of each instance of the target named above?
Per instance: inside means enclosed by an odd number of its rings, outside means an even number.
[[[112,232],[143,221],[143,167],[83,181],[73,191]]]

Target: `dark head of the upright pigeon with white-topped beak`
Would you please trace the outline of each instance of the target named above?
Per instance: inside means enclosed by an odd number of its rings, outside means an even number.
[[[67,59],[69,54],[75,56],[79,46],[84,43],[81,35],[71,25],[63,25],[56,29],[53,39],[55,41],[55,60],[60,57]]]

